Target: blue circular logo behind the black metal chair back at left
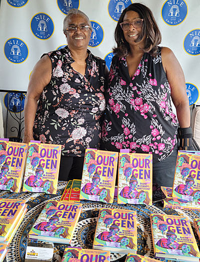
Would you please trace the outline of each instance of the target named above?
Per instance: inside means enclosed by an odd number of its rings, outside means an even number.
[[[24,109],[25,95],[22,93],[6,93],[4,96],[4,105],[10,112],[19,113]]]

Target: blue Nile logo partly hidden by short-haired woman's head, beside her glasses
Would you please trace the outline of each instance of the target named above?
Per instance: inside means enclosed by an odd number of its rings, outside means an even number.
[[[91,32],[88,46],[97,47],[103,41],[103,37],[104,37],[103,28],[101,27],[100,24],[98,24],[95,21],[90,21],[90,22],[92,26],[92,32]]]

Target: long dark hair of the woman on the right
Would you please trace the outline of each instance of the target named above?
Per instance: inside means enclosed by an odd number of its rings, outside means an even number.
[[[144,47],[142,49],[143,52],[148,52],[151,56],[156,57],[157,46],[161,42],[161,34],[150,9],[139,3],[129,5],[121,13],[114,31],[114,39],[116,41],[117,47],[112,49],[113,53],[118,57],[123,57],[127,55],[128,51],[130,50],[129,44],[125,40],[123,31],[120,27],[120,23],[123,22],[125,13],[128,11],[134,11],[138,13],[139,17],[143,19],[141,34],[135,42],[141,41],[145,36]]]

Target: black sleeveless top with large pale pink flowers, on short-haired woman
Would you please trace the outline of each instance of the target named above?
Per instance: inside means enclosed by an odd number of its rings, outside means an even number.
[[[62,155],[72,157],[100,145],[105,61],[87,53],[84,76],[71,67],[74,60],[67,46],[47,54],[52,76],[39,98],[33,125],[34,139],[62,145]]]

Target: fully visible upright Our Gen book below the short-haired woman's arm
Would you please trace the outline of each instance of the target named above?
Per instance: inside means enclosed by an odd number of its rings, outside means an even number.
[[[56,194],[60,163],[60,145],[28,144],[23,181],[24,192]]]

